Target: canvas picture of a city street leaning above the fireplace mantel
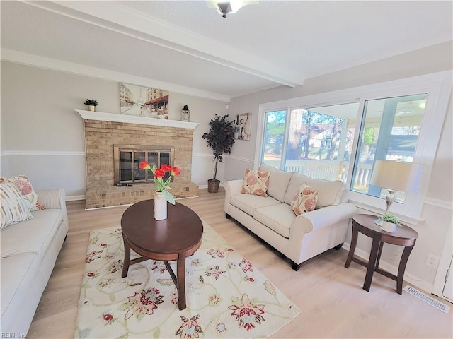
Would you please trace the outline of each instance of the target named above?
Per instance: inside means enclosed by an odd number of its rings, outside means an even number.
[[[121,114],[168,119],[168,90],[120,83]]]

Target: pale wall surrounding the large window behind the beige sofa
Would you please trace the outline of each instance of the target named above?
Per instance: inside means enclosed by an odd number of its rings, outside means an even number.
[[[240,147],[235,145],[231,155],[227,157],[225,179],[242,178],[244,169],[253,167],[255,162],[258,107],[260,104],[451,70],[453,69],[452,51],[452,42],[437,44],[418,51],[401,54],[397,57],[374,61],[351,69],[307,79],[304,85],[299,88],[282,86],[232,99],[229,109],[232,115],[246,112],[252,114],[252,133],[250,141],[236,141],[236,143],[240,143]],[[406,268],[406,279],[428,292],[432,290],[436,270],[425,265],[426,258],[428,254],[441,256],[448,226],[452,221],[452,97],[450,97],[448,107],[432,168],[428,198],[425,199],[423,205],[423,222],[412,226],[418,232],[419,237]],[[363,211],[363,213],[367,212]],[[347,242],[350,242],[350,237],[351,234],[349,232],[346,238]],[[363,255],[369,254],[370,246],[369,239],[360,237],[357,244],[357,249],[360,253]],[[348,244],[345,247],[348,248]],[[401,252],[401,246],[388,244],[384,246],[382,255],[384,268],[396,273]]]

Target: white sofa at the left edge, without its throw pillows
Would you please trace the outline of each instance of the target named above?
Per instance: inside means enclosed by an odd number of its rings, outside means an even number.
[[[1,333],[14,338],[25,338],[68,232],[64,190],[36,193],[45,209],[0,231]]]

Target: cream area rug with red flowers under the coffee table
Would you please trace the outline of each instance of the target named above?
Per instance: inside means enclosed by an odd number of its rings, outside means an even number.
[[[74,338],[267,338],[300,314],[206,223],[186,259],[183,311],[164,262],[136,263],[121,278],[123,259],[120,227],[91,232]]]

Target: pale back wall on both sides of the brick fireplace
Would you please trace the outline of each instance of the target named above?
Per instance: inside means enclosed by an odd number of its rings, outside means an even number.
[[[120,113],[119,82],[1,61],[1,176],[28,174],[35,189],[64,187],[69,200],[86,192],[84,123],[74,109],[95,98],[98,112]],[[195,184],[207,185],[214,164],[202,139],[226,102],[170,92],[169,117],[200,122],[193,138]],[[222,174],[223,166],[219,174]]]

